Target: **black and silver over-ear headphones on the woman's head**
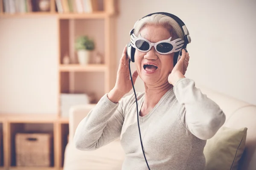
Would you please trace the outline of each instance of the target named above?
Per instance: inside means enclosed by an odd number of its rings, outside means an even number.
[[[180,28],[182,28],[182,31],[183,31],[183,35],[184,35],[184,45],[182,48],[186,48],[186,45],[189,44],[191,42],[191,38],[189,36],[189,31],[188,29],[186,28],[185,24],[183,23],[182,20],[180,20],[180,18],[178,18],[177,16],[175,16],[174,14],[170,14],[170,13],[167,13],[167,12],[156,12],[156,13],[152,13],[152,14],[148,14],[146,15],[145,17],[148,17],[148,16],[151,16],[153,14],[163,14],[163,15],[166,15],[168,17],[171,17],[172,19],[174,19],[180,26]],[[145,18],[143,17],[143,18]],[[143,19],[141,18],[141,19]],[[141,20],[140,19],[140,20]],[[131,34],[134,33],[134,28],[130,31],[130,36]],[[182,50],[181,48],[181,50]],[[182,52],[178,51],[178,52],[175,52],[175,55],[174,55],[174,58],[173,58],[173,63],[174,63],[174,66],[177,64],[177,61],[180,59],[181,57],[181,54]],[[129,59],[131,59],[132,62],[134,62],[134,54],[135,54],[135,48],[131,46],[131,42],[128,43],[127,45],[127,56]]]

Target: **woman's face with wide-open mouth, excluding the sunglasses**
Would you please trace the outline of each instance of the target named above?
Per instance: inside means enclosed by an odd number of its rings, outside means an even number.
[[[167,28],[155,25],[144,26],[139,34],[150,42],[159,42],[171,37]],[[174,53],[159,54],[154,47],[147,53],[136,50],[134,59],[140,78],[146,85],[164,85],[168,82],[168,76],[173,69],[173,57]]]

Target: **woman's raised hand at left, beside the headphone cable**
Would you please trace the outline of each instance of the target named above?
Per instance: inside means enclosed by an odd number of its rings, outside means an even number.
[[[126,46],[122,52],[122,57],[119,61],[119,67],[116,75],[116,84],[115,87],[108,93],[108,99],[111,102],[117,103],[122,96],[129,93],[132,89],[130,72],[129,72],[129,59],[126,54]],[[135,83],[138,77],[137,71],[134,71],[132,74],[132,80]]]

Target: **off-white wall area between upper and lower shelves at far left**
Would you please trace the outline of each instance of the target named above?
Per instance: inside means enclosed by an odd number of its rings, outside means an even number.
[[[0,19],[0,113],[57,113],[56,21]]]

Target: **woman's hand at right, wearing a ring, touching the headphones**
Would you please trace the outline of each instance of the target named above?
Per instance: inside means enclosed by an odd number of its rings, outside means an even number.
[[[180,60],[177,62],[175,67],[172,69],[172,72],[168,76],[168,82],[173,86],[179,80],[184,78],[186,70],[189,65],[189,53],[182,49],[182,55]]]

